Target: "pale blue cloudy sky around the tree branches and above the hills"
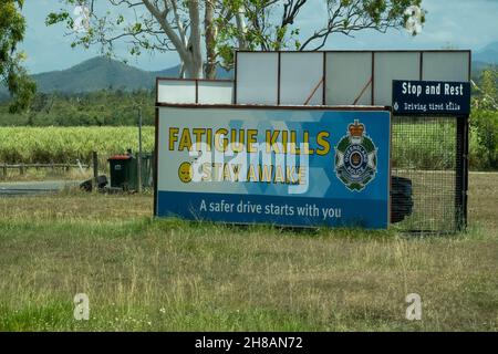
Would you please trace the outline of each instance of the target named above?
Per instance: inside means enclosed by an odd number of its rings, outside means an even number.
[[[107,0],[96,0],[97,9],[112,9]],[[45,17],[61,8],[59,0],[25,0],[23,14],[28,30],[21,50],[28,54],[27,69],[40,72],[64,70],[84,60],[98,55],[98,48],[71,49],[72,37],[65,34],[63,25],[46,27]],[[330,37],[324,49],[470,49],[481,50],[498,41],[498,0],[423,0],[427,11],[422,32],[412,37],[405,30],[387,33],[359,32],[354,38],[335,34]],[[325,0],[309,0],[299,15],[301,38],[312,33],[313,28],[324,22]],[[147,71],[163,70],[178,64],[175,52],[148,54],[138,59],[126,54],[125,44],[116,50],[121,59]]]

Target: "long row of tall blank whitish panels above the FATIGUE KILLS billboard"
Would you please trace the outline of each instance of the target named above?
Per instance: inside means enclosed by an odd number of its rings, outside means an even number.
[[[470,51],[238,51],[236,67],[236,104],[392,106],[393,80],[469,82]]]

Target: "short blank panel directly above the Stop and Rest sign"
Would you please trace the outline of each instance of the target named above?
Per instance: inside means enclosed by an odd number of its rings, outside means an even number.
[[[423,55],[422,80],[469,80],[469,52],[424,52]]]

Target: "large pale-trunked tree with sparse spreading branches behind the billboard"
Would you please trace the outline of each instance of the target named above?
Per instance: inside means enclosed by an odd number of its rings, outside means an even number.
[[[112,11],[96,9],[94,0],[60,0],[65,8],[50,13],[46,24],[64,22],[75,35],[73,46],[101,46],[113,55],[115,43],[126,41],[129,53],[176,51],[180,75],[214,77],[217,64],[234,65],[234,50],[319,50],[331,34],[353,35],[363,30],[386,32],[413,19],[406,9],[422,0],[324,0],[317,28],[302,41],[298,27],[310,0],[108,0]],[[85,6],[89,27],[74,31],[69,6]],[[417,21],[425,21],[424,11]],[[205,51],[205,54],[203,52]]]

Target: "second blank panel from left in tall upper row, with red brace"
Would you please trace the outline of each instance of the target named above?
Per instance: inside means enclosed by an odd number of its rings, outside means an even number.
[[[320,105],[323,101],[323,53],[280,54],[280,104]],[[317,90],[315,90],[317,88]],[[313,90],[314,93],[313,93]],[[312,95],[313,94],[313,95]],[[312,96],[311,96],[312,95]]]

